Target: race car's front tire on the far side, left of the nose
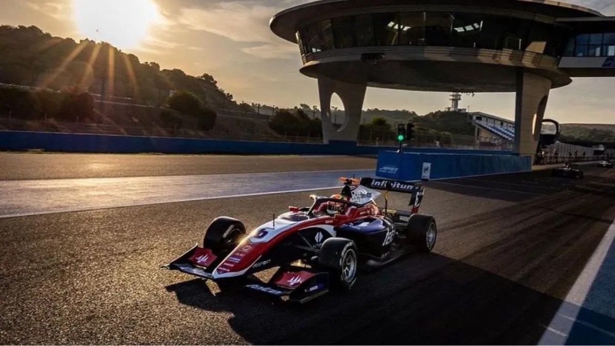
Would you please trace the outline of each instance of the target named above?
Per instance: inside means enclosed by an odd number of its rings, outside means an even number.
[[[203,247],[216,255],[232,251],[245,236],[245,226],[232,217],[221,216],[209,224],[203,237]]]

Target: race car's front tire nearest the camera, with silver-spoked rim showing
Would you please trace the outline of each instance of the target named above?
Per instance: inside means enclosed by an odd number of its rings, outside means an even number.
[[[359,251],[354,241],[346,238],[329,238],[322,243],[318,255],[320,267],[330,275],[331,288],[349,291],[357,281]]]

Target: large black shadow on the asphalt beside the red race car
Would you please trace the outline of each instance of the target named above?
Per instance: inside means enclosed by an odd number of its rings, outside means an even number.
[[[562,304],[438,254],[409,255],[361,275],[350,292],[304,305],[244,291],[213,296],[201,280],[169,287],[182,304],[232,313],[231,328],[253,344],[536,344]]]

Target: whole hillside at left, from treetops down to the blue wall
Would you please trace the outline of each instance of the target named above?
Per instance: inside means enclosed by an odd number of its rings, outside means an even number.
[[[6,25],[0,26],[0,129],[280,138],[210,74],[164,70],[105,42]]]

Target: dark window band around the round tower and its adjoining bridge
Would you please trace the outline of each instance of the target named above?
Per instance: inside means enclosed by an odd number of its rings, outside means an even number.
[[[347,15],[299,28],[302,54],[352,47],[439,46],[512,49],[576,57],[613,56],[615,33],[579,34],[566,45],[561,28],[536,20],[464,12]]]

